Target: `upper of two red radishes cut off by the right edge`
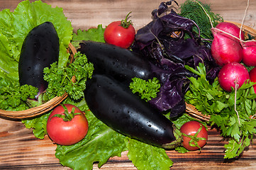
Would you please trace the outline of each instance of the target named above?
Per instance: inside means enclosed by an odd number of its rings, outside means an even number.
[[[247,66],[256,66],[256,41],[243,42],[243,63]]]

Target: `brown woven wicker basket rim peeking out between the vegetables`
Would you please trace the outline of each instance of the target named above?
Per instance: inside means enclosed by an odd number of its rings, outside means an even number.
[[[230,21],[228,21],[230,22]],[[235,22],[230,22],[230,23],[235,23]],[[235,23],[237,26],[241,26],[240,23]],[[248,26],[243,26],[243,31],[245,32],[245,36],[247,35],[252,35],[256,37],[256,30],[248,27]],[[77,50],[74,48],[74,46],[69,43],[69,48],[67,49],[68,52],[71,54],[70,56],[73,58],[74,54],[77,52]],[[75,81],[75,77],[72,77],[72,81]],[[45,112],[50,111],[52,108],[57,106],[59,103],[61,103],[63,100],[67,98],[67,93],[65,93],[63,96],[56,96],[55,98],[52,98],[50,101],[47,103],[44,103],[41,106],[37,106],[35,108],[29,108],[25,111],[3,111],[0,110],[0,116],[4,118],[33,118],[37,115],[41,115]],[[203,120],[203,121],[208,121],[210,120],[210,116],[208,115],[203,115],[201,112],[197,111],[194,106],[192,106],[189,103],[186,103],[186,111],[187,114],[190,115],[193,118]]]

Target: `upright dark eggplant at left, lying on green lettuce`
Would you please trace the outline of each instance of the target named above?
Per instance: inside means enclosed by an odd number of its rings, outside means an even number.
[[[23,41],[18,62],[20,84],[35,86],[38,94],[42,93],[48,86],[43,79],[43,69],[57,62],[59,52],[60,40],[52,23],[45,22],[30,30]]]

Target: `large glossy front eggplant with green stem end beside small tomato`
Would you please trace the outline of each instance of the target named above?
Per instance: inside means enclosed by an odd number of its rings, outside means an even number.
[[[128,137],[165,149],[182,142],[174,124],[120,81],[94,74],[84,97],[91,112],[108,127]]]

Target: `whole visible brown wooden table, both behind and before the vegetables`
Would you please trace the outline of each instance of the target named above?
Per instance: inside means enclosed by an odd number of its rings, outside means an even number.
[[[202,0],[203,1],[203,0]],[[0,8],[16,8],[18,0],[1,1]],[[151,21],[150,12],[157,8],[159,0],[43,0],[52,7],[64,10],[67,19],[72,22],[74,30],[107,26],[111,21],[123,19],[133,11],[132,19],[135,29]],[[179,4],[184,0],[177,0]],[[227,21],[240,23],[243,20],[247,0],[204,0],[211,4],[213,12],[220,13]],[[250,1],[245,16],[245,25],[256,29],[256,1]],[[255,140],[256,142],[256,140]],[[208,145],[199,152],[179,154],[169,151],[167,154],[174,162],[172,169],[256,169],[256,147],[248,147],[239,159],[223,159],[223,145],[226,144],[216,129],[209,130]],[[69,169],[59,164],[55,158],[55,148],[46,136],[44,140],[34,137],[18,120],[0,118],[0,169]],[[123,152],[122,157],[113,157],[101,169],[136,169]],[[94,164],[94,169],[98,169]]]

